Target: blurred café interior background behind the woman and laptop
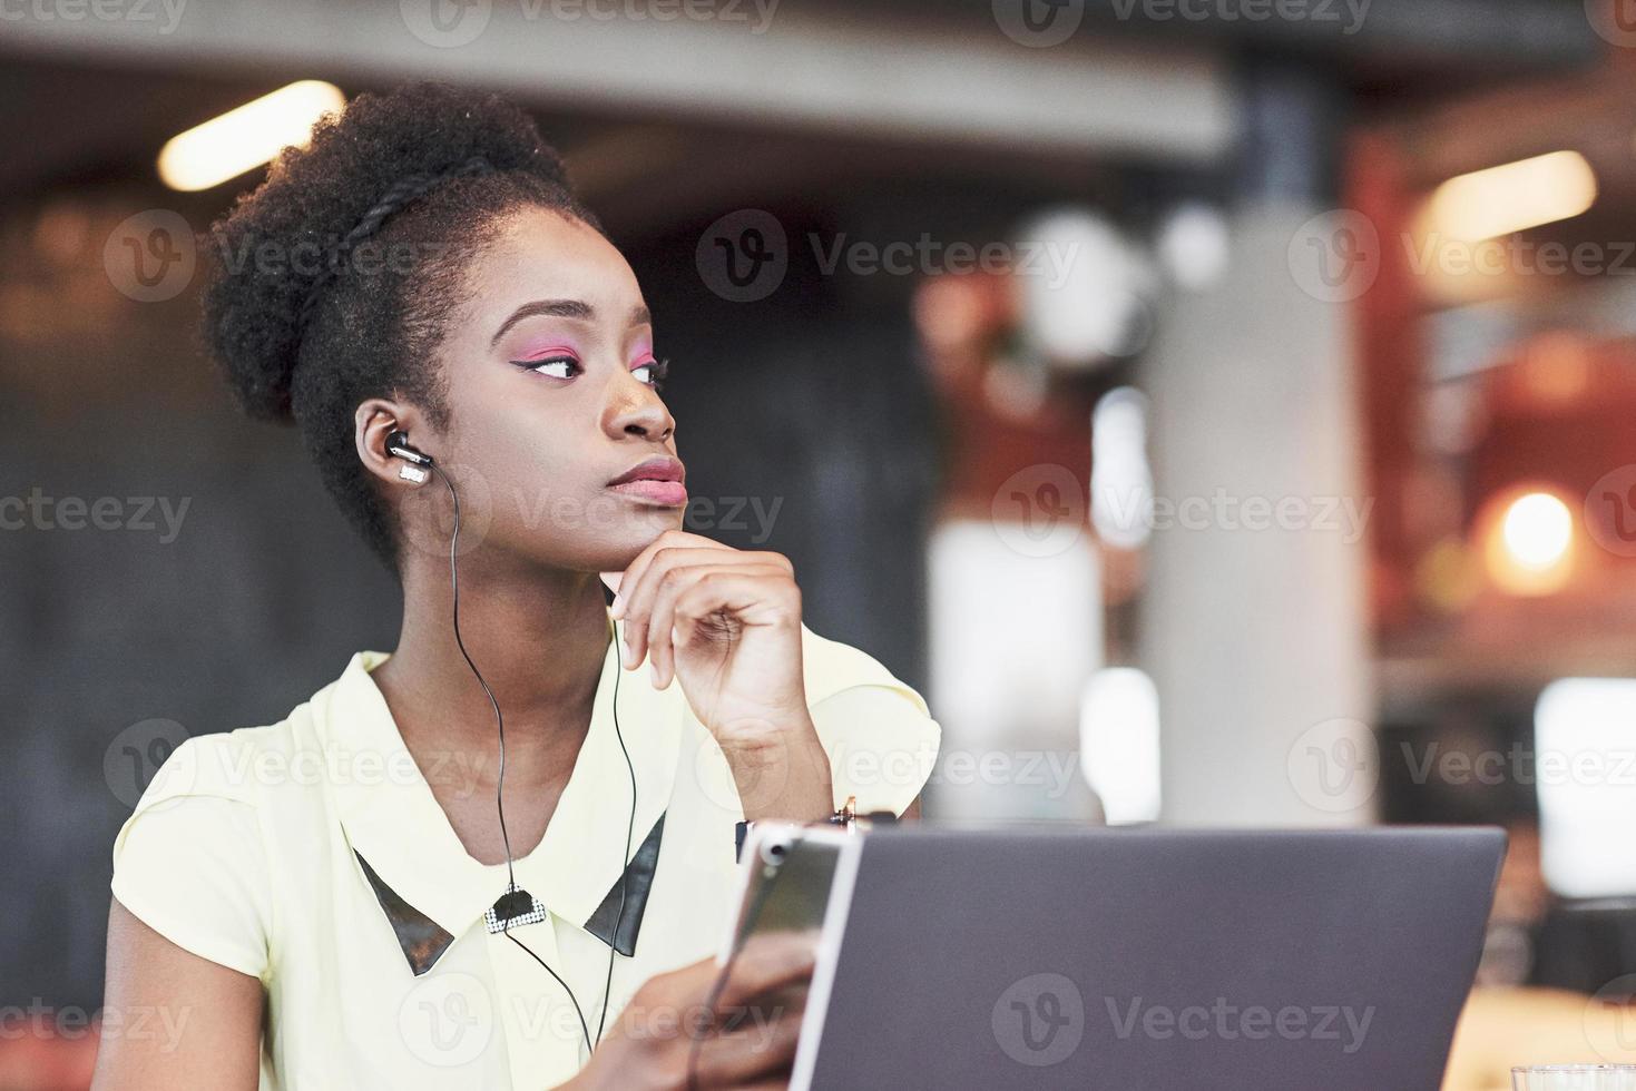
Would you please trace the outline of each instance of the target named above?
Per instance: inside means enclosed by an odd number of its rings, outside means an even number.
[[[929,818],[1503,824],[1449,1086],[1629,1058],[1629,0],[18,0],[0,1089],[87,1086],[170,749],[393,646],[195,342],[193,232],[427,77],[563,150],[689,527],[926,694]]]

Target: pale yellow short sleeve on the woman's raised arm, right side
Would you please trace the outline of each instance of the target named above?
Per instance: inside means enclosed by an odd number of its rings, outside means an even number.
[[[802,659],[836,801],[856,797],[861,813],[901,815],[931,779],[942,741],[926,700],[867,653],[810,630]]]

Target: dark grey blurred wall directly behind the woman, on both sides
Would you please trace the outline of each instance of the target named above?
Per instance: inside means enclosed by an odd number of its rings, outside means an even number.
[[[52,505],[0,532],[0,1003],[101,1003],[113,837],[180,738],[280,720],[398,631],[394,581],[298,435],[239,419],[193,347],[191,288],[146,304],[113,288],[103,242],[155,200],[88,200],[49,252],[41,206],[13,204],[3,236],[0,499]],[[213,209],[185,214],[201,229]],[[748,510],[697,530],[787,553],[813,630],[923,685],[934,456],[906,311],[798,268],[772,299],[728,304],[695,242],[630,247],[676,361],[689,486],[775,512],[764,541]],[[119,528],[69,528],[62,497],[113,497]]]

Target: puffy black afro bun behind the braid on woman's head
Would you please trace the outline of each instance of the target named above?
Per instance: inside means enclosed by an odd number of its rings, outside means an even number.
[[[337,244],[411,175],[473,157],[571,193],[561,157],[527,113],[494,93],[409,83],[324,114],[306,147],[286,147],[204,239],[203,339],[242,409],[290,420],[303,311]]]

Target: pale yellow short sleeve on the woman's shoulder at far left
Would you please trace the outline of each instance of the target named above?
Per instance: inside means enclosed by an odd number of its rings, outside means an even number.
[[[178,947],[265,980],[267,851],[255,805],[208,775],[224,746],[195,736],[172,752],[115,837],[113,896]]]

